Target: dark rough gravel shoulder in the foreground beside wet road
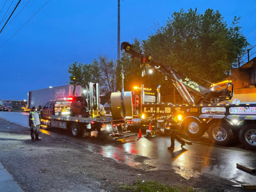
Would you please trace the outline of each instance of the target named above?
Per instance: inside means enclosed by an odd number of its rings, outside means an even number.
[[[0,118],[0,162],[24,191],[120,191],[120,184],[138,179],[202,191],[243,191],[211,175],[186,180],[174,171],[145,171],[61,137],[42,132],[40,137],[33,143],[28,128]]]

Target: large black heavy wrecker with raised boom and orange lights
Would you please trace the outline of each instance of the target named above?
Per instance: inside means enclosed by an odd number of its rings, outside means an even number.
[[[256,149],[256,104],[229,104],[232,83],[216,84],[209,90],[152,56],[136,52],[128,42],[123,42],[121,49],[140,60],[142,67],[164,74],[186,101],[186,104],[161,102],[160,88],[157,88],[157,102],[144,102],[142,85],[141,125],[150,124],[164,132],[180,129],[191,138],[200,138],[206,131],[212,143],[225,146],[239,139],[244,147]]]

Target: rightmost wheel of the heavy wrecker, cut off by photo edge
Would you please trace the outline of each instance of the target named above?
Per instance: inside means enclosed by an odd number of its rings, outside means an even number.
[[[256,124],[247,124],[239,132],[239,140],[244,147],[256,149]]]

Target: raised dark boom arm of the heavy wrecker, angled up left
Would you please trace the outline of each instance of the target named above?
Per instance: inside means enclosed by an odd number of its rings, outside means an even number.
[[[167,67],[166,65],[159,63],[158,61],[154,60],[151,56],[145,56],[141,54],[141,52],[136,52],[133,49],[132,45],[128,42],[123,42],[121,44],[121,49],[125,50],[125,52],[130,54],[132,58],[140,59],[143,65],[146,65],[147,67],[164,74],[166,77],[168,77],[168,79],[171,79],[175,88],[177,88],[180,95],[183,97],[184,100],[188,102],[188,104],[195,104],[200,102],[218,102],[232,98],[233,85],[231,83],[228,83],[227,88],[223,90],[211,91],[205,88],[204,86],[196,83],[195,81],[192,81],[188,77],[183,76],[174,68]],[[230,85],[232,86],[232,91],[228,90],[228,87]],[[196,95],[198,95],[200,97],[200,100],[195,102],[193,96],[190,95],[186,88],[188,88]]]

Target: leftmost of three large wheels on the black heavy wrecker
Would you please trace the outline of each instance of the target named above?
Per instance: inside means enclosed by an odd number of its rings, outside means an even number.
[[[186,120],[185,132],[190,138],[200,138],[205,133],[205,129],[198,120],[189,118]]]

